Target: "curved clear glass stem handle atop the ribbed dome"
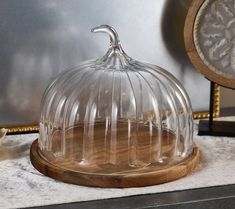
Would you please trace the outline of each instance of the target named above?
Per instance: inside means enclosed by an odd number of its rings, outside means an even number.
[[[119,38],[116,30],[109,25],[100,25],[91,29],[93,33],[106,33],[109,35],[110,44],[112,47],[116,48],[119,46]]]

